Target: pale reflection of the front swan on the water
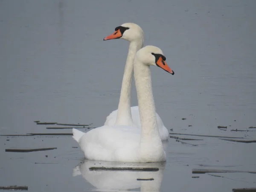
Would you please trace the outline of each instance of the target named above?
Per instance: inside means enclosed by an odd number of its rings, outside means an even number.
[[[158,163],[118,163],[107,161],[84,160],[73,169],[73,176],[82,175],[87,182],[96,187],[96,191],[133,191],[140,188],[141,192],[160,192],[165,162]],[[157,167],[157,172],[131,171],[89,171],[90,167]],[[150,179],[154,180],[137,180]],[[137,190],[136,190],[137,191]]]

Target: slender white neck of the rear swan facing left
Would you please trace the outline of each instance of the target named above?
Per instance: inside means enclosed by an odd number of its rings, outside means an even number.
[[[131,82],[133,76],[134,57],[136,52],[142,47],[143,38],[138,39],[137,41],[131,41],[130,43],[115,125],[133,125],[131,117]]]

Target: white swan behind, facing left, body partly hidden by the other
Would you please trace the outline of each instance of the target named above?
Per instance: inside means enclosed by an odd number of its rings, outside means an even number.
[[[116,27],[115,32],[105,37],[104,41],[119,38],[129,41],[130,46],[125,64],[118,109],[108,115],[104,125],[129,125],[140,128],[139,108],[138,106],[131,107],[131,81],[135,54],[143,47],[143,30],[135,23],[124,23]],[[169,132],[157,113],[156,117],[160,138],[161,140],[167,140]]]

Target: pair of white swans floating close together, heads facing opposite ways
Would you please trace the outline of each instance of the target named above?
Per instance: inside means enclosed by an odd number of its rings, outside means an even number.
[[[104,40],[116,38],[130,41],[118,110],[107,117],[102,127],[87,133],[73,129],[73,138],[89,160],[166,161],[161,138],[165,140],[168,131],[155,112],[150,65],[158,66],[172,75],[174,72],[166,64],[161,49],[143,47],[143,31],[140,26],[134,23],[122,24]],[[131,108],[133,70],[139,107]]]

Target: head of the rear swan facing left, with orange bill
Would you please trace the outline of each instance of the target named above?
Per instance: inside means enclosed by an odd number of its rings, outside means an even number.
[[[124,39],[126,41],[136,41],[143,39],[143,30],[135,23],[124,23],[117,26],[113,34],[104,38],[104,41],[111,39]]]

